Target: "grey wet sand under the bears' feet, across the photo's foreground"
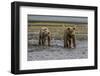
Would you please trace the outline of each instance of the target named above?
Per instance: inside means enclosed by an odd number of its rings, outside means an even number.
[[[61,40],[52,40],[50,47],[38,46],[37,40],[28,43],[28,61],[88,58],[87,40],[77,40],[76,48],[71,49],[64,48]]]

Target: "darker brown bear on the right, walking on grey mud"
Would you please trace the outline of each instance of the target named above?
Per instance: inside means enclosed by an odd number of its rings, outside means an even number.
[[[75,39],[75,28],[67,28],[64,30],[64,47],[66,48],[75,48],[76,39]]]

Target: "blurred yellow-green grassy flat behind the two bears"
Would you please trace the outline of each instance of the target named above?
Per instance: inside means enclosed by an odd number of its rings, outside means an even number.
[[[37,40],[41,27],[48,27],[53,40],[63,40],[64,30],[66,27],[75,27],[77,40],[87,40],[88,27],[87,24],[76,23],[57,23],[57,22],[32,22],[28,24],[28,39]]]

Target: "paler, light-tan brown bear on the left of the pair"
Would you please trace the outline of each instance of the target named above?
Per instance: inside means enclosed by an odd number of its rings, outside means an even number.
[[[46,45],[46,41],[48,43],[47,46],[50,46],[51,41],[51,32],[47,27],[42,27],[39,32],[39,45]]]

